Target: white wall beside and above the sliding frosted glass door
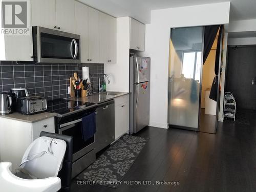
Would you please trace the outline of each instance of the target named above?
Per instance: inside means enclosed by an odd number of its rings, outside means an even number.
[[[150,125],[167,128],[170,28],[227,24],[230,3],[153,10],[146,25],[145,53],[151,57]]]

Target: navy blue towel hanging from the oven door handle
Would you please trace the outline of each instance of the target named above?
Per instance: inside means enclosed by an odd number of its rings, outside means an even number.
[[[82,137],[87,141],[94,136],[96,132],[95,112],[82,118]]]

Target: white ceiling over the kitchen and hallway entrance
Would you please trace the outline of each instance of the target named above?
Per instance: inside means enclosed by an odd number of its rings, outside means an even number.
[[[150,23],[150,11],[200,4],[228,2],[227,0],[78,0],[115,17],[131,16]],[[256,18],[255,0],[230,0],[230,20]],[[218,13],[218,12],[217,12]]]

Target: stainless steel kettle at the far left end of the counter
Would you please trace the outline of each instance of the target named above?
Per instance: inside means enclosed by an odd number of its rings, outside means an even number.
[[[0,115],[12,113],[12,97],[9,92],[0,93]]]

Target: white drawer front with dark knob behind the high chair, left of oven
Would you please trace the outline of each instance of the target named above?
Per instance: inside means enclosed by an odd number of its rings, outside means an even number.
[[[33,140],[38,138],[42,131],[55,133],[54,117],[32,123]]]

